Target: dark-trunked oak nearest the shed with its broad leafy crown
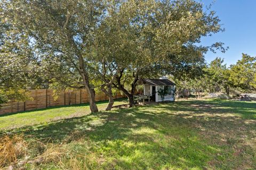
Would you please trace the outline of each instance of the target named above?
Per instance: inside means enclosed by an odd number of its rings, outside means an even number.
[[[110,56],[116,68],[112,83],[130,106],[140,79],[178,75],[204,62],[207,50],[225,50],[222,43],[198,45],[222,29],[215,13],[196,1],[115,1],[109,9],[100,49]]]

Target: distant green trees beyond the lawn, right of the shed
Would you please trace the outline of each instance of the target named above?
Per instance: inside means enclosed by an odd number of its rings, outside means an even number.
[[[223,64],[222,58],[217,57],[199,70],[174,78],[179,95],[188,98],[194,92],[196,98],[200,98],[202,92],[230,95],[256,91],[256,57],[242,54],[242,59],[229,67]]]

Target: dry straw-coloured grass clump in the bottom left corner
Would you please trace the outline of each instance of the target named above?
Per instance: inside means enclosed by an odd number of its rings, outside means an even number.
[[[28,157],[27,150],[31,147],[37,148],[38,156]],[[6,166],[20,168],[26,163],[61,162],[61,156],[66,152],[60,145],[45,145],[37,140],[27,142],[23,135],[4,135],[0,138],[0,168]]]

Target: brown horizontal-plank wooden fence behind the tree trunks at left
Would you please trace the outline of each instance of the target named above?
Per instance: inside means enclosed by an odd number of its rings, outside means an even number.
[[[38,89],[29,90],[30,97],[33,98],[27,101],[9,102],[2,104],[0,108],[0,114],[15,113],[22,111],[32,111],[38,108],[46,108],[50,106],[66,106],[75,105],[89,102],[89,95],[85,89],[81,90],[63,90],[59,93],[57,100],[53,98],[52,89]],[[122,98],[120,92],[117,92],[114,98]],[[95,101],[107,100],[108,97],[100,92],[95,95]]]

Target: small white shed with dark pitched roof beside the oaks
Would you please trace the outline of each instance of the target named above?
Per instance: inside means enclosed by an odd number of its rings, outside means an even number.
[[[150,101],[174,101],[175,84],[168,79],[142,79],[143,96],[150,96]]]

